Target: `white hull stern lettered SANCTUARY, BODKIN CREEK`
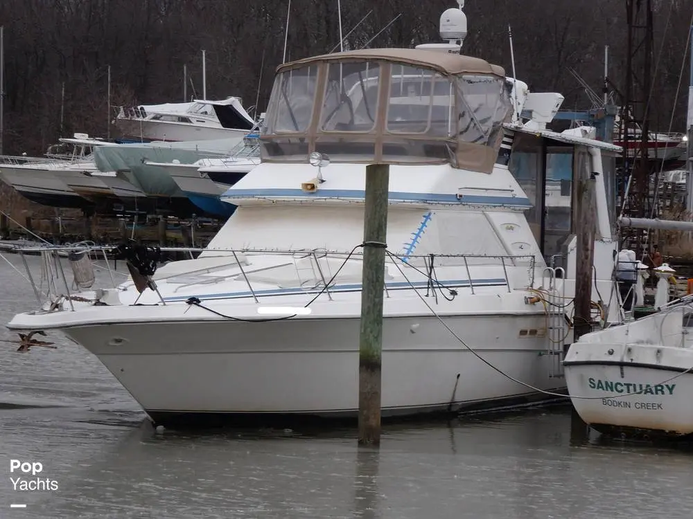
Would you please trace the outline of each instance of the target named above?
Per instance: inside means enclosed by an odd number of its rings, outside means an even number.
[[[693,433],[693,373],[685,372],[692,366],[692,349],[651,344],[576,343],[564,362],[581,419],[634,439]]]

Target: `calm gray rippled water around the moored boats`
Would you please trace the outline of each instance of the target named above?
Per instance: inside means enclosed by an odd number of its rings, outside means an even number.
[[[0,258],[0,322],[34,305]],[[57,343],[0,343],[3,519],[693,516],[693,453],[571,437],[568,408],[392,426],[380,450],[354,430],[156,431],[96,358]],[[10,459],[58,490],[15,491]]]

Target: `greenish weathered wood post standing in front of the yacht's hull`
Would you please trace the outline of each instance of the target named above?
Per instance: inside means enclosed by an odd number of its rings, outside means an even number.
[[[380,368],[389,165],[366,167],[363,288],[358,343],[358,443],[380,444]]]

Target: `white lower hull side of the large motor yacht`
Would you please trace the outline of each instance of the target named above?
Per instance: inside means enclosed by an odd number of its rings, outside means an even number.
[[[487,361],[538,388],[550,378],[543,315],[448,320]],[[161,424],[192,425],[234,415],[356,416],[358,318],[248,323],[143,322],[64,329],[95,354]],[[489,330],[493,333],[489,334]],[[215,338],[203,340],[201,338]],[[383,416],[493,408],[547,399],[475,358],[432,316],[387,318]],[[238,418],[238,416],[236,416]]]

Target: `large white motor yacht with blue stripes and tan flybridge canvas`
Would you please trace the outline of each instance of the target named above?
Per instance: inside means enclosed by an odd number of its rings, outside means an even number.
[[[198,258],[157,269],[156,250],[124,245],[131,281],[8,327],[62,331],[156,424],[356,417],[365,165],[385,159],[383,417],[561,397],[577,224],[547,226],[541,165],[597,173],[596,301],[616,248],[602,152],[620,148],[547,129],[561,94],[461,55],[462,7],[441,36],[279,66],[261,163],[222,195],[236,211]]]

